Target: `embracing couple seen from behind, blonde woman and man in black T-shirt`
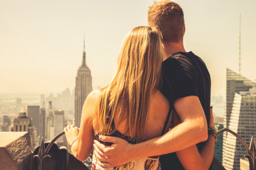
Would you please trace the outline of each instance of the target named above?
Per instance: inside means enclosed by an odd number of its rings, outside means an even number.
[[[148,26],[124,39],[112,81],[86,98],[80,130],[64,129],[71,151],[82,161],[94,146],[92,169],[209,169],[216,129],[208,69],[184,49],[178,4],[152,5]]]

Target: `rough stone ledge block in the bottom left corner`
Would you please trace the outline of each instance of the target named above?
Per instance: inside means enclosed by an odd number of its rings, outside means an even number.
[[[28,132],[0,132],[0,169],[30,169],[31,153]]]

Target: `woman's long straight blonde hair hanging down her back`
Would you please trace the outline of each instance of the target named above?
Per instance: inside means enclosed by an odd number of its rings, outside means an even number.
[[[159,85],[163,49],[161,33],[150,27],[136,27],[125,37],[118,66],[111,83],[97,96],[100,131],[111,135],[128,118],[129,132],[144,139],[150,95]],[[106,120],[108,119],[108,123]]]

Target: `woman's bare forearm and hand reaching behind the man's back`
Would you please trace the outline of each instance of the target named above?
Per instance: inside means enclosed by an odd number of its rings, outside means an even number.
[[[210,111],[210,129],[215,129],[213,111]],[[177,151],[176,154],[185,169],[209,169],[213,156],[216,138],[209,134],[202,149],[198,152],[196,145]]]

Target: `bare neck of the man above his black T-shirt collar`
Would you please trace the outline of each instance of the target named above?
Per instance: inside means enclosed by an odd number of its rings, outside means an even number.
[[[163,42],[164,46],[164,60],[167,59],[171,54],[176,52],[186,52],[183,41],[178,43],[175,42]]]

